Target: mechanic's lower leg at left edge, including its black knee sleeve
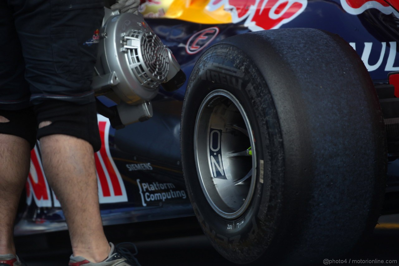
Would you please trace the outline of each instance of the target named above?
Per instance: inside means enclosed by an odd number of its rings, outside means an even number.
[[[4,106],[2,106],[4,107]],[[0,109],[0,254],[15,254],[14,221],[36,143],[36,117],[31,107]]]

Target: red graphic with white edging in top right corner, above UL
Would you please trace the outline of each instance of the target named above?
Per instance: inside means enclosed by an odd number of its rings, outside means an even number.
[[[341,0],[341,4],[344,10],[352,15],[359,15],[367,9],[375,8],[386,15],[394,14],[399,18],[399,13],[384,0]]]

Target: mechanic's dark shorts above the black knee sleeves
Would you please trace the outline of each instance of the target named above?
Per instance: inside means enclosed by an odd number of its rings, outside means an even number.
[[[104,0],[0,0],[0,110],[55,100],[93,105],[103,7]]]

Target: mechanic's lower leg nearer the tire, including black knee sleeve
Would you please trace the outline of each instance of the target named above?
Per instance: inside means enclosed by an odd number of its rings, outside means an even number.
[[[95,102],[47,100],[36,105],[43,169],[65,214],[74,256],[107,258],[94,151],[101,147]]]

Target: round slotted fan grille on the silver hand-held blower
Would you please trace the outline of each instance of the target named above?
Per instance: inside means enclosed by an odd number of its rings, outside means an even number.
[[[133,30],[130,37],[140,40],[140,47],[130,46],[128,60],[134,75],[141,85],[157,88],[166,78],[169,70],[168,54],[158,36],[152,32]]]

